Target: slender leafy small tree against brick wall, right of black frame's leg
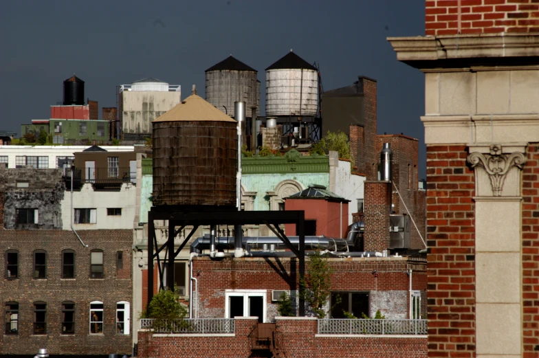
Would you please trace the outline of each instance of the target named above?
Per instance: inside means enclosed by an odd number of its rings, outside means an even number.
[[[309,304],[311,311],[318,318],[326,317],[325,306],[331,296],[331,273],[333,270],[319,250],[309,256],[309,273],[305,279],[300,280],[303,286],[301,298]],[[340,303],[333,302],[333,306]]]

